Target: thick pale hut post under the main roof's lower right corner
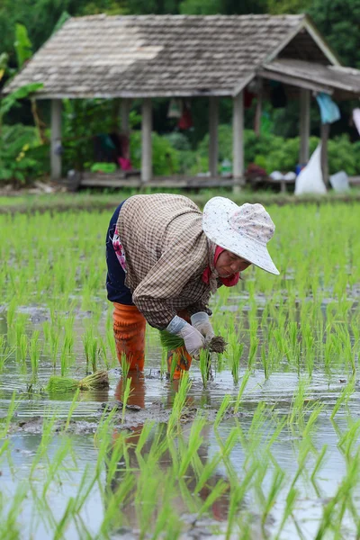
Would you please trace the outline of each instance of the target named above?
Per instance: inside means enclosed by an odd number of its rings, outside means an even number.
[[[233,192],[238,193],[244,182],[244,99],[243,92],[233,97],[232,110],[232,175]]]

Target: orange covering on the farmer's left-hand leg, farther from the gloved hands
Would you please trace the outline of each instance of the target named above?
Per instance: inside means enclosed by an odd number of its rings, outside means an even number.
[[[134,305],[113,302],[113,335],[121,362],[125,355],[130,371],[144,371],[146,320]]]

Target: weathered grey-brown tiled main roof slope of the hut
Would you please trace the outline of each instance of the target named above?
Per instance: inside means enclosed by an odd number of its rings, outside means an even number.
[[[72,18],[7,85],[39,97],[232,95],[304,15],[95,15]]]

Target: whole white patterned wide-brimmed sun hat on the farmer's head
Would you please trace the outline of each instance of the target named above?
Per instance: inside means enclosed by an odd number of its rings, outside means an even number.
[[[212,197],[203,209],[202,230],[217,246],[270,274],[280,274],[266,247],[275,224],[262,204],[238,206],[226,197]]]

